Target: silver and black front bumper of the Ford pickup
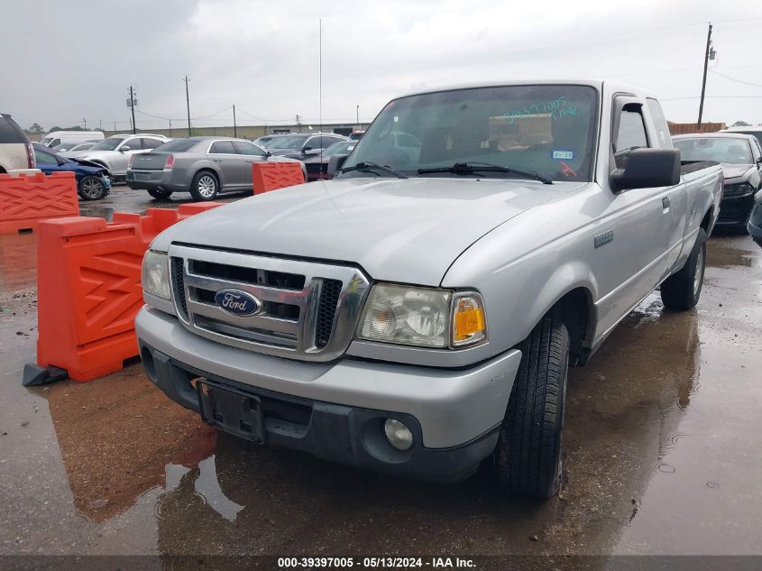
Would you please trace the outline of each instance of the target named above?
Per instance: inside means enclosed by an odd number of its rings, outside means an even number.
[[[156,309],[143,308],[135,326],[151,381],[186,408],[198,411],[191,380],[203,377],[272,401],[274,409],[308,410],[301,423],[265,413],[268,443],[446,482],[464,479],[491,454],[521,359],[512,350],[458,371],[352,359],[303,363],[208,341]],[[387,418],[413,432],[409,451],[386,442]]]

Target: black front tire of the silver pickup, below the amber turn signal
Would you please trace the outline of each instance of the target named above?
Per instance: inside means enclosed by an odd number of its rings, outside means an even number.
[[[561,484],[569,334],[559,319],[545,318],[520,349],[494,464],[501,492],[545,500]]]

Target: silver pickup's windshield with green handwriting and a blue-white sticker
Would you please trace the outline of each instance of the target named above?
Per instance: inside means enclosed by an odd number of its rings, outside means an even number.
[[[477,87],[403,97],[384,107],[344,168],[376,162],[420,176],[418,169],[486,162],[553,180],[591,180],[596,119],[597,93],[585,86]],[[341,176],[377,175],[352,170]]]

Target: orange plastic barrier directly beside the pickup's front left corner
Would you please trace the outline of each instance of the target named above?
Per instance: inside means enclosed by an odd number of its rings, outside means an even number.
[[[154,236],[210,208],[151,208],[146,216],[117,213],[69,217],[39,226],[37,364],[91,381],[138,355],[134,319],[142,307],[142,255]]]

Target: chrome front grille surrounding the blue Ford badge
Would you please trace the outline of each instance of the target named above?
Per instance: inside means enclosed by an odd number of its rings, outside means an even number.
[[[329,361],[344,353],[369,282],[349,266],[171,245],[175,310],[197,335],[268,355]],[[236,316],[215,300],[242,290],[262,302]]]

